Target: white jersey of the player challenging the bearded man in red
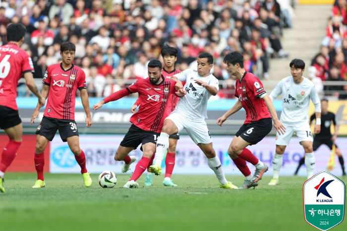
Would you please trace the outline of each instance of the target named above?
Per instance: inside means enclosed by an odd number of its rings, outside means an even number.
[[[218,79],[213,74],[207,77],[201,77],[192,68],[186,69],[174,76],[180,81],[185,81],[184,89],[187,91],[185,96],[179,98],[174,112],[178,112],[194,120],[207,118],[207,101],[210,99],[211,94],[206,88],[195,83],[194,79],[202,80],[219,90]]]

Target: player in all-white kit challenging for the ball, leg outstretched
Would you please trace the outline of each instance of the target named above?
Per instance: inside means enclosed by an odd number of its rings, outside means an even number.
[[[213,149],[212,138],[207,128],[207,101],[218,93],[218,79],[210,73],[213,57],[203,52],[198,57],[197,71],[186,69],[173,75],[172,79],[186,81],[184,88],[187,94],[178,100],[174,111],[164,120],[164,125],[157,141],[156,162],[149,170],[156,175],[162,173],[162,161],[169,147],[170,135],[183,130],[199,146],[207,157],[208,166],[215,172],[221,188],[237,188],[227,181],[221,161]]]

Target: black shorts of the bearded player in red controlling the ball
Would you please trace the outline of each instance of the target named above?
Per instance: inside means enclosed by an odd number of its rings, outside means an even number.
[[[157,144],[159,136],[160,133],[158,132],[145,131],[134,124],[131,124],[128,132],[120,142],[120,146],[136,149],[141,143],[142,145],[147,143]]]

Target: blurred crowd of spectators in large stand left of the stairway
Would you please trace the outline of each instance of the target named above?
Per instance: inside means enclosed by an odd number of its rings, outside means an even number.
[[[340,1],[346,4],[346,0]],[[60,44],[74,43],[74,64],[85,71],[88,94],[96,97],[124,88],[124,80],[146,78],[149,60],[162,60],[160,51],[167,44],[178,49],[176,68],[180,70],[196,68],[197,56],[209,52],[215,58],[213,74],[228,80],[218,96],[233,98],[235,78],[230,77],[222,61],[226,54],[242,52],[245,69],[265,79],[270,77],[270,58],[288,56],[280,38],[282,29],[291,27],[292,8],[288,0],[280,3],[281,6],[278,0],[1,0],[0,45],[6,44],[6,25],[22,23],[27,29],[22,48],[33,60],[34,77],[43,78],[47,66],[61,60]],[[336,34],[335,30],[332,34]],[[347,40],[341,43],[347,49]]]

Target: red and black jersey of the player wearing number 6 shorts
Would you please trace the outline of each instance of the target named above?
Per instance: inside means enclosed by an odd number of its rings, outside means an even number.
[[[251,123],[263,118],[271,118],[265,101],[260,96],[266,94],[260,80],[249,72],[244,72],[241,81],[236,80],[235,97],[237,97],[246,110],[244,123]]]

